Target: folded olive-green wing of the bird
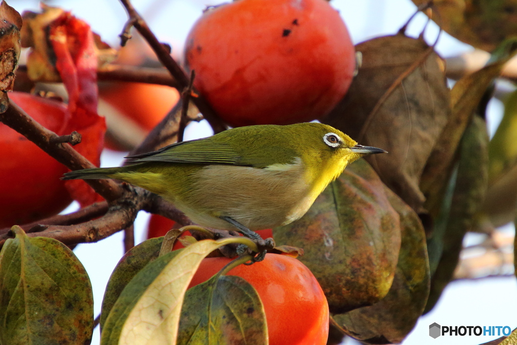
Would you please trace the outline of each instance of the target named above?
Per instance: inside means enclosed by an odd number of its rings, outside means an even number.
[[[240,155],[225,143],[215,143],[204,139],[183,141],[160,148],[158,151],[129,156],[131,164],[142,162],[171,162],[199,164],[237,164],[250,166],[250,163],[240,163]]]

